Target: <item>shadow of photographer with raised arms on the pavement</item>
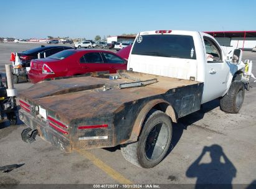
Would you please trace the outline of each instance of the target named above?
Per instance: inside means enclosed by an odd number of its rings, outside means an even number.
[[[209,164],[200,164],[202,157],[210,153],[211,162]],[[220,162],[223,157],[224,163]],[[232,188],[232,179],[235,177],[237,170],[224,154],[220,145],[214,144],[211,147],[204,147],[202,154],[187,169],[187,177],[197,177],[196,188],[202,188],[205,184],[225,184],[225,188]]]

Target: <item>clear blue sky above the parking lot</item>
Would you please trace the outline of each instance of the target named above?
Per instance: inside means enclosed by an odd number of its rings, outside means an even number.
[[[3,0],[0,37],[120,35],[143,30],[256,30],[255,0]]]

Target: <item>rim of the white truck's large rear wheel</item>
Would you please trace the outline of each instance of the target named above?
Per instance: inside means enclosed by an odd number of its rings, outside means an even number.
[[[156,124],[145,142],[145,155],[149,161],[155,161],[164,153],[168,144],[169,129],[164,122]]]

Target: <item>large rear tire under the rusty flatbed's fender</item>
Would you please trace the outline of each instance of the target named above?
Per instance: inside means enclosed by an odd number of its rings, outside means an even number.
[[[173,133],[171,118],[162,111],[153,109],[149,111],[142,128],[138,141],[121,145],[121,153],[131,164],[152,168],[168,152]]]

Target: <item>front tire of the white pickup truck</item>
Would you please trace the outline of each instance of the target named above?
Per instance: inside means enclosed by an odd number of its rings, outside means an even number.
[[[220,99],[220,109],[237,114],[244,103],[244,84],[240,81],[231,83],[229,91]]]

